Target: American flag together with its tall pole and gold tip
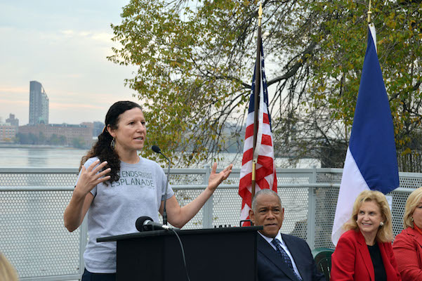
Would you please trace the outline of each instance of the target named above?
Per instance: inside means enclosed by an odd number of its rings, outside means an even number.
[[[242,197],[240,219],[246,226],[251,213],[251,200],[256,189],[270,188],[277,192],[274,148],[272,146],[271,116],[268,110],[268,90],[264,72],[264,55],[261,39],[262,4],[258,8],[258,38],[256,44],[255,72],[251,85],[248,117],[246,118],[245,141],[240,170],[239,195]],[[264,149],[261,149],[264,148]],[[258,159],[264,157],[265,161]],[[249,220],[250,221],[250,220]],[[249,223],[247,224],[249,225]],[[251,223],[253,226],[253,224]]]

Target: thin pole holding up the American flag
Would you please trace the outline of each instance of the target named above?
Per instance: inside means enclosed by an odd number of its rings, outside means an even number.
[[[258,40],[256,43],[256,63],[255,63],[255,98],[254,98],[254,112],[253,112],[253,155],[255,155],[256,139],[258,135],[258,114],[259,108],[259,93],[261,91],[261,20],[263,18],[263,7],[259,4],[258,9]],[[255,196],[256,185],[256,162],[255,157],[252,160],[252,183],[251,183],[251,200]]]

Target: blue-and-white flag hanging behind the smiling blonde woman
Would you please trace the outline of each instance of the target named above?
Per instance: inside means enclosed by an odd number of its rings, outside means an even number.
[[[376,34],[369,25],[367,53],[343,167],[331,240],[336,245],[353,203],[363,190],[387,194],[399,186],[393,118],[376,54]]]

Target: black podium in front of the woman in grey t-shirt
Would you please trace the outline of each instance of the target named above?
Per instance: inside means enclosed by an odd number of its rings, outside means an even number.
[[[256,281],[256,235],[262,226],[176,230],[191,281]],[[182,250],[171,230],[110,237],[117,242],[117,281],[185,281]]]

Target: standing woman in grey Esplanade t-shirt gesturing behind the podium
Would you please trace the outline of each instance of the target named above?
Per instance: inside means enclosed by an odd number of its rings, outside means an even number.
[[[217,164],[214,164],[207,188],[192,202],[180,207],[170,187],[164,198],[166,175],[161,167],[138,155],[146,136],[140,105],[119,101],[108,110],[105,129],[98,136],[98,142],[82,157],[83,165],[64,220],[67,230],[73,231],[88,212],[84,281],[115,280],[116,243],[97,243],[98,237],[136,232],[135,222],[139,216],[149,216],[157,222],[164,200],[169,223],[181,228],[232,171],[231,164],[216,174]]]

